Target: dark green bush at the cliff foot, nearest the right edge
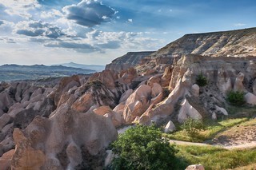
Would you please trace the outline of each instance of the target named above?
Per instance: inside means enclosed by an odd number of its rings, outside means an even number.
[[[230,102],[231,105],[243,105],[245,103],[243,96],[243,92],[230,91],[227,93],[226,99]]]

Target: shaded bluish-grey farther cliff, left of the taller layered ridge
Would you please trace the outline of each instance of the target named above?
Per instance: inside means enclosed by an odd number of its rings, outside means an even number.
[[[140,64],[140,61],[150,56],[154,51],[143,51],[143,52],[129,52],[123,55],[122,57],[118,57],[114,59],[109,65],[106,65],[106,69],[121,71],[125,69],[129,69],[130,67],[134,67],[135,65]]]

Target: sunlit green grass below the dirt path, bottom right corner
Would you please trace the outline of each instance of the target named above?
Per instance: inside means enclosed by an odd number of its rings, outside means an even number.
[[[248,150],[226,150],[209,146],[177,146],[179,169],[190,164],[202,164],[205,169],[222,170],[248,166],[256,162],[256,148]]]

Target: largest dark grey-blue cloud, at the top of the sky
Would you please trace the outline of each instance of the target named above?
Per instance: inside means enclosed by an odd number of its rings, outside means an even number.
[[[97,0],[82,0],[78,5],[65,6],[66,18],[79,25],[93,27],[110,21],[116,11]]]

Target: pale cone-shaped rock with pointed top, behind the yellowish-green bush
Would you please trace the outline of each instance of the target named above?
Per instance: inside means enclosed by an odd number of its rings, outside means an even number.
[[[191,117],[194,120],[202,120],[202,115],[198,113],[198,110],[194,109],[186,99],[182,103],[182,108],[178,112],[178,122],[183,123],[187,117]]]

